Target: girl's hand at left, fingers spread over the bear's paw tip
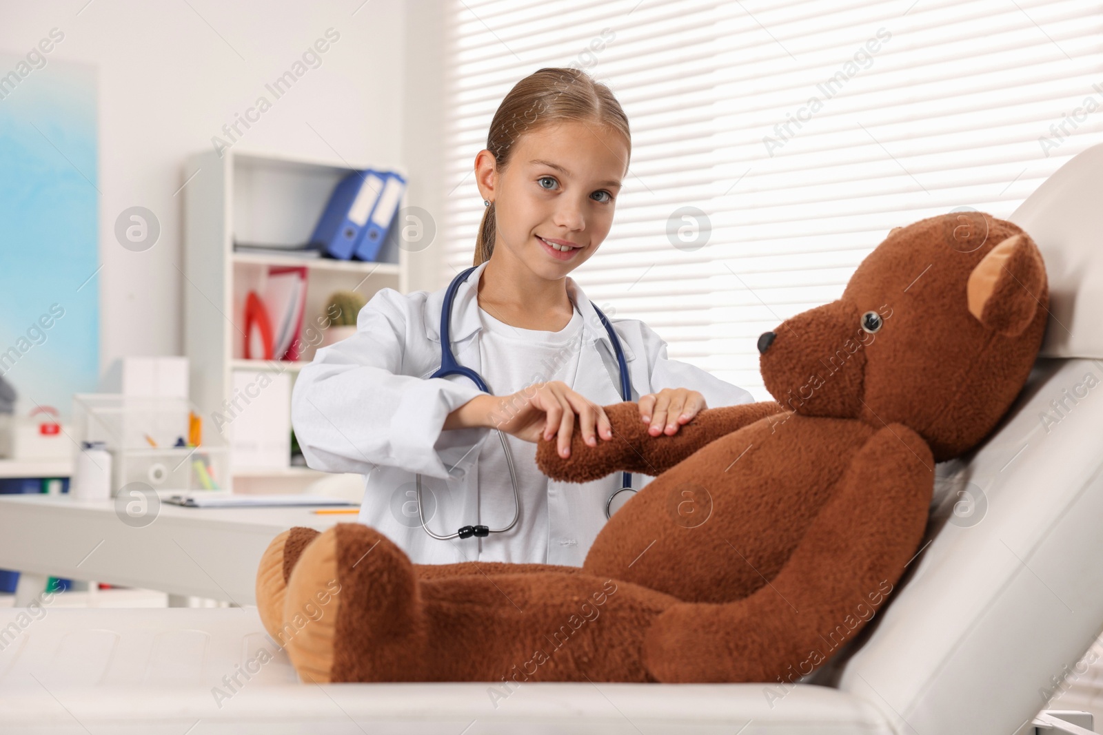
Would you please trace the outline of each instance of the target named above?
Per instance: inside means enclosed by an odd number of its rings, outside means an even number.
[[[602,440],[613,437],[604,410],[561,380],[535,382],[511,396],[489,398],[485,425],[534,443],[558,434],[559,456],[570,455],[576,415],[582,440],[590,446],[597,446],[595,434]]]

